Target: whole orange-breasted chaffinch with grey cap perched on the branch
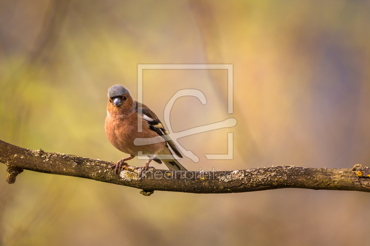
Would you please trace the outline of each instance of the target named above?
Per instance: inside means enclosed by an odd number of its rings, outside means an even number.
[[[138,108],[142,108],[142,115],[138,114]],[[138,132],[138,120],[142,121],[142,132]],[[149,163],[152,160],[157,163],[165,163],[170,170],[187,171],[175,159],[174,155],[180,158],[182,158],[182,155],[157,115],[146,105],[134,101],[129,91],[120,84],[108,89],[105,134],[107,134],[108,140],[115,148],[129,154],[128,157],[111,166],[111,168],[115,167],[116,174],[122,166],[127,166],[127,160],[131,160],[138,155],[138,151],[142,151],[144,155],[149,157],[147,163],[139,167],[141,169],[140,177],[148,170]],[[135,138],[153,138],[156,136],[162,136],[165,141],[148,145],[134,145]],[[161,155],[167,155],[167,159],[162,158],[161,160]],[[170,159],[168,159],[168,156],[170,156]]]

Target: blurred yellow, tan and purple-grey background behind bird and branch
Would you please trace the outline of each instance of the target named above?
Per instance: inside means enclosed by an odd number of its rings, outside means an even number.
[[[116,162],[104,132],[107,89],[137,99],[138,64],[233,64],[144,70],[143,102],[174,132],[189,170],[271,165],[351,168],[370,160],[369,1],[0,1],[0,139]],[[226,154],[233,132],[233,160]],[[141,166],[145,160],[131,160]],[[156,168],[165,169],[155,164]],[[185,194],[24,171],[0,164],[0,245],[369,245],[370,195],[282,189]]]

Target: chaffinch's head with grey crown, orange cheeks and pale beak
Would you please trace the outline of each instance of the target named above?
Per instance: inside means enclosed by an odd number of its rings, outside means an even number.
[[[125,114],[132,110],[133,105],[134,100],[124,86],[116,84],[108,89],[107,111],[110,114]]]

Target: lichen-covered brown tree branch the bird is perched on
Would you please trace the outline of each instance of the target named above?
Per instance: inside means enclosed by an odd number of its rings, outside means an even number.
[[[187,193],[236,193],[280,188],[313,190],[353,190],[370,192],[370,168],[359,164],[353,169],[272,166],[235,171],[170,171],[149,169],[138,178],[138,170],[128,167],[119,175],[112,162],[88,159],[43,150],[23,149],[0,140],[0,162],[8,167],[7,182],[14,183],[23,170],[98,180],[142,189]]]

